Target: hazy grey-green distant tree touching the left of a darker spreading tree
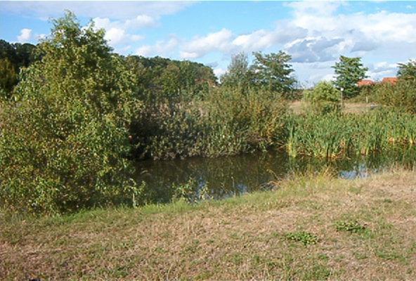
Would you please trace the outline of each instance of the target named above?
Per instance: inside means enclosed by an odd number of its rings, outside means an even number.
[[[233,55],[228,71],[221,77],[224,86],[237,86],[240,89],[247,88],[249,84],[249,61],[247,54],[238,53]]]

